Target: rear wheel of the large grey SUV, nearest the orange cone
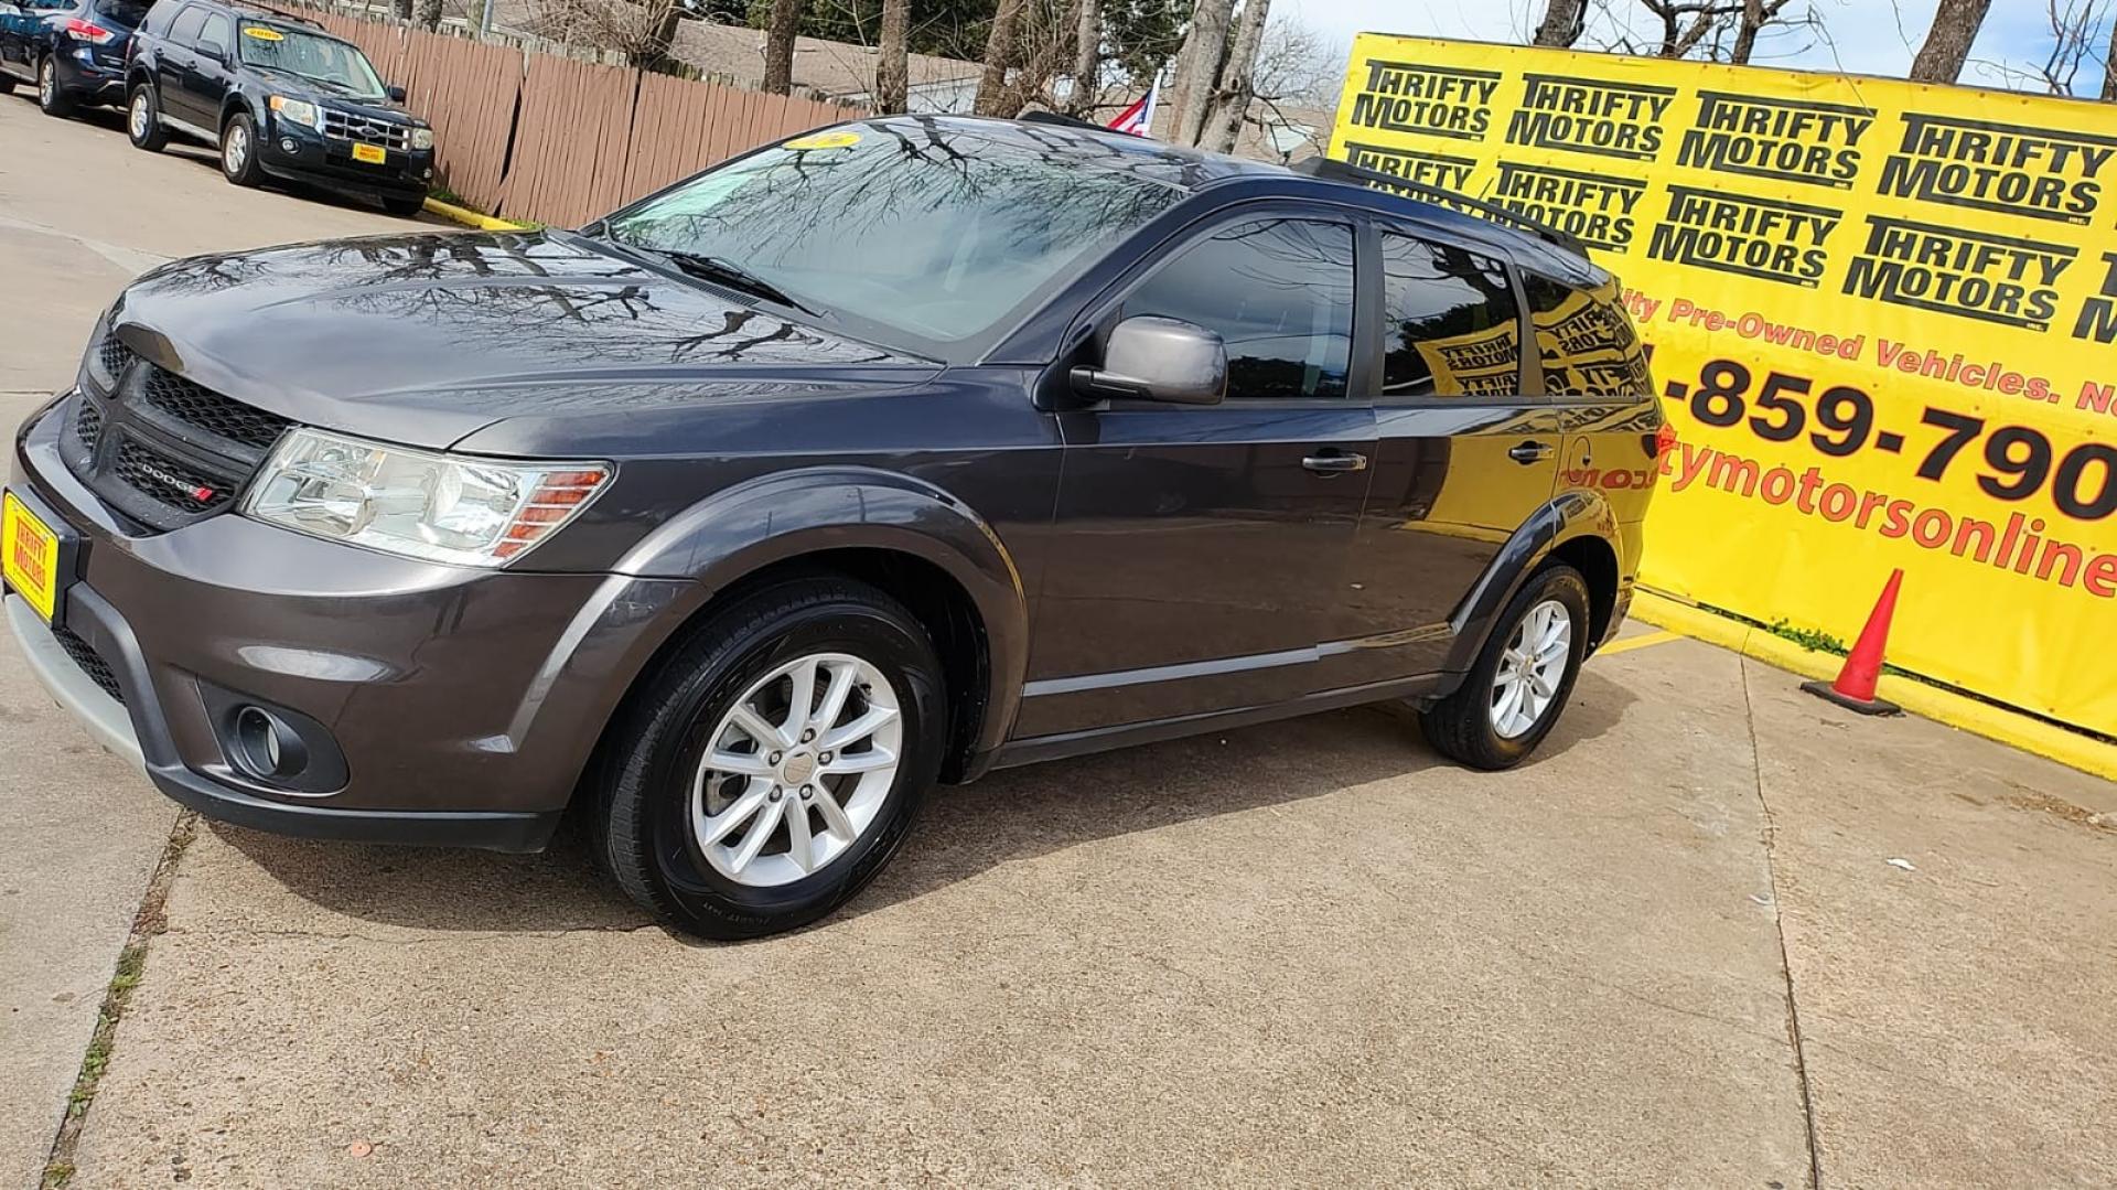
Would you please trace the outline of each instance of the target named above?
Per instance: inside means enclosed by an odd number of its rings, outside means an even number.
[[[1548,565],[1507,601],[1463,686],[1418,711],[1418,726],[1459,764],[1512,769],[1558,722],[1586,656],[1588,580],[1571,565]]]

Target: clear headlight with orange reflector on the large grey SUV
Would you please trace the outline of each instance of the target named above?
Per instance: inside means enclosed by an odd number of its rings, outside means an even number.
[[[292,430],[243,515],[334,542],[455,565],[506,565],[586,508],[610,464],[523,464]]]

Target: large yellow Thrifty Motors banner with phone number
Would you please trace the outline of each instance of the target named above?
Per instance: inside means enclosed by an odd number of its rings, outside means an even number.
[[[1363,34],[1332,155],[1617,273],[1647,587],[2117,735],[2117,108]]]

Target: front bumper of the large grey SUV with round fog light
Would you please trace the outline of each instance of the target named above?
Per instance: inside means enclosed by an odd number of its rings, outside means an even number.
[[[135,536],[59,462],[59,419],[25,426],[8,487],[83,542],[57,616],[72,639],[15,595],[8,627],[99,743],[224,822],[533,851],[692,591],[419,563],[237,515]],[[106,667],[108,688],[68,644]],[[343,786],[294,792],[246,773],[229,697],[326,731]]]

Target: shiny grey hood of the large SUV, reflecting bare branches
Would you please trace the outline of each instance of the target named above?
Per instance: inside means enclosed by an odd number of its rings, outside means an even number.
[[[191,256],[112,332],[309,426],[447,447],[510,417],[661,417],[917,383],[940,364],[794,322],[569,233],[390,235]]]

